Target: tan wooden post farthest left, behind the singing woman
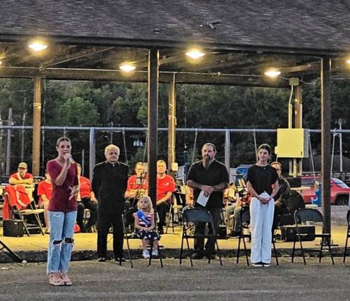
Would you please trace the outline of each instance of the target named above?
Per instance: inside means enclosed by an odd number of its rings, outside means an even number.
[[[40,123],[41,123],[41,78],[34,79],[33,99],[33,154],[31,172],[40,176]]]

